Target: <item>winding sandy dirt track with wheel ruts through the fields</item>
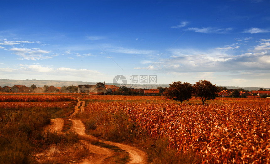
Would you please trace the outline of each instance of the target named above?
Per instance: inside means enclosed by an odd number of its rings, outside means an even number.
[[[74,116],[79,111],[78,107],[80,106],[81,102],[82,101],[80,101],[78,98],[78,104],[75,107],[75,111],[71,116]],[[85,102],[83,102],[82,106],[80,107],[81,111],[84,110],[84,104],[85,104]],[[82,138],[86,138],[88,140],[92,140],[92,141],[96,140],[96,141],[102,142],[101,140],[98,140],[94,136],[90,136],[90,135],[85,134],[85,127],[84,127],[84,124],[82,123],[81,120],[73,120],[73,119],[70,119],[70,120],[72,121],[72,124],[73,124],[71,127],[71,130],[78,133],[79,136],[81,136]],[[51,125],[48,127],[48,130],[61,132],[62,127],[63,127],[63,122],[64,121],[61,118],[51,119]],[[85,148],[87,148],[90,152],[94,153],[94,155],[86,157],[86,159],[84,159],[81,163],[101,164],[104,159],[106,159],[107,157],[111,157],[114,154],[114,152],[111,151],[110,149],[107,149],[104,147],[99,147],[96,145],[92,145],[87,140],[80,140],[80,142],[83,143]],[[104,143],[119,147],[120,149],[128,152],[128,154],[131,158],[130,163],[132,163],[132,164],[146,163],[145,153],[143,151],[137,149],[136,147],[132,147],[132,146],[121,144],[121,143],[109,142],[109,141],[105,141]]]

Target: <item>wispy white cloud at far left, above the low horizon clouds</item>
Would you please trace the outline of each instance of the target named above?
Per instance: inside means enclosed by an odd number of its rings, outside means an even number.
[[[52,58],[51,56],[44,56],[44,54],[48,54],[51,51],[41,50],[39,48],[16,48],[12,47],[8,49],[10,51],[13,51],[16,55],[19,55],[20,59],[26,59],[26,60],[42,60],[42,59],[48,59]]]

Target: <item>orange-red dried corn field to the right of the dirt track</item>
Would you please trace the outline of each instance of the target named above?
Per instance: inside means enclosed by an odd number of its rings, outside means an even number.
[[[169,137],[169,149],[196,152],[199,163],[270,163],[269,99],[217,98],[208,105],[197,105],[133,98],[134,102],[92,102],[86,110],[105,111],[103,117],[125,112],[152,137]]]

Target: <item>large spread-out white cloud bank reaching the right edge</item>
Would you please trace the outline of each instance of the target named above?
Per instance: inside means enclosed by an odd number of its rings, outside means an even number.
[[[270,39],[269,39],[270,40]],[[227,45],[209,50],[169,49],[171,56],[153,63],[153,68],[163,73],[170,72],[250,72],[270,70],[270,42],[262,39],[250,52],[232,54],[239,46]],[[149,69],[136,67],[134,69]]]

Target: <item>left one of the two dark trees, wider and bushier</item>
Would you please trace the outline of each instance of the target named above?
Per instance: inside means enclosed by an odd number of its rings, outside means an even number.
[[[172,82],[164,95],[167,99],[180,101],[189,100],[192,97],[192,84],[188,82]]]

